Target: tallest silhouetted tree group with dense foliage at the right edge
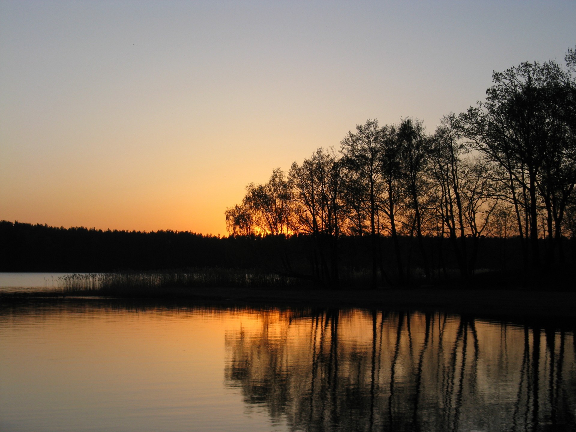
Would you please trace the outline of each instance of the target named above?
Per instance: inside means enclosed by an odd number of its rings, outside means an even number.
[[[576,82],[568,55],[567,66],[525,62],[494,73],[486,101],[460,116],[465,136],[502,170],[518,232],[529,240],[525,262],[530,256],[534,267],[540,237],[548,239],[548,263],[556,245],[562,256],[564,211],[576,183]]]

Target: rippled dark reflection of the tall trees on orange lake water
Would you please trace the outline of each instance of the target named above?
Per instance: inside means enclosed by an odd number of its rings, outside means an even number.
[[[256,310],[225,379],[303,431],[574,430],[574,333],[443,313]]]

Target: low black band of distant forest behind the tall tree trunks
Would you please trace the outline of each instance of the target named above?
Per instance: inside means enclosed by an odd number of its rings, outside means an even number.
[[[398,240],[401,250],[413,248],[414,241],[410,237],[399,236]],[[342,234],[339,237],[340,286],[370,285],[370,241],[370,236]],[[478,276],[490,276],[495,271],[500,285],[522,283],[510,280],[522,267],[518,237],[485,237],[479,241],[483,253],[478,257],[482,273]],[[439,253],[444,248],[442,238],[424,237],[423,244],[430,251],[430,268],[435,280],[441,283],[457,281],[453,254],[448,250]],[[316,245],[317,240],[311,234],[252,234],[220,238],[170,230],[137,232],[55,228],[0,221],[0,271],[176,271],[183,274],[199,272],[206,277],[222,276],[223,271],[229,271],[234,278],[244,272],[247,278],[252,279],[275,275],[282,280],[289,278],[292,281],[290,285],[327,286],[325,280],[317,277]],[[381,236],[378,247],[382,251],[392,249],[391,237]],[[419,257],[412,256],[408,262],[412,267],[409,282],[423,283],[425,275]],[[393,270],[390,262],[382,263],[382,268],[385,272]],[[218,280],[227,279],[219,277]],[[483,283],[482,279],[478,282],[480,285]]]

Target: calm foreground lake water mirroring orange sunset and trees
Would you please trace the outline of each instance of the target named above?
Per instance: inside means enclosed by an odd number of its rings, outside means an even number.
[[[4,304],[0,430],[574,430],[574,347],[443,313]]]

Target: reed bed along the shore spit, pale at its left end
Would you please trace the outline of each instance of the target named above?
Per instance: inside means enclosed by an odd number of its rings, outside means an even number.
[[[65,293],[99,295],[162,294],[172,288],[294,288],[307,281],[270,273],[247,272],[223,268],[185,272],[118,272],[71,274],[59,278]]]

